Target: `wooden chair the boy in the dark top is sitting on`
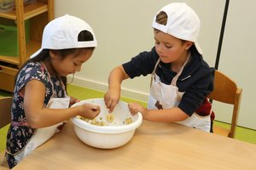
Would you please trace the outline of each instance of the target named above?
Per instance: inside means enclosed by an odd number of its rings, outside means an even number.
[[[214,88],[212,93],[208,95],[208,98],[213,101],[216,100],[218,102],[233,105],[233,114],[230,129],[218,127],[213,124],[213,133],[218,133],[230,138],[235,137],[237,117],[241,102],[241,92],[242,89],[237,88],[236,82],[233,82],[230,77],[225,76],[221,71],[215,71]]]

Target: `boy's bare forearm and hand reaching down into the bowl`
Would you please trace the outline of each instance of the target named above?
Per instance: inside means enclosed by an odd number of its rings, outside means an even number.
[[[108,92],[104,95],[105,105],[109,109],[109,112],[112,112],[115,105],[119,102],[121,83],[127,78],[129,76],[125,73],[122,65],[119,65],[110,72],[108,77]]]

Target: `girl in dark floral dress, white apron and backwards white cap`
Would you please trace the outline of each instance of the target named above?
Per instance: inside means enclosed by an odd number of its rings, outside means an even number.
[[[12,122],[7,135],[9,167],[47,141],[73,116],[93,119],[98,105],[68,108],[76,100],[67,96],[66,77],[80,71],[96,47],[90,26],[71,15],[49,22],[42,47],[21,67],[15,81]]]

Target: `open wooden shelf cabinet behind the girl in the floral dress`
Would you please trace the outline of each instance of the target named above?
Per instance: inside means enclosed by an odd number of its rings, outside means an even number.
[[[0,20],[15,20],[19,55],[17,57],[0,54],[0,89],[13,92],[15,75],[31,54],[41,47],[44,26],[54,19],[54,0],[37,0],[23,4],[15,0],[15,10],[0,13]],[[30,20],[30,41],[26,43],[25,20]]]

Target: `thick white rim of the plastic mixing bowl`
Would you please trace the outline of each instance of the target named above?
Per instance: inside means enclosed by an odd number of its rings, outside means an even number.
[[[89,101],[93,99],[84,99],[82,101]],[[119,102],[125,103],[124,101],[119,100]],[[79,103],[76,103],[79,105]],[[74,104],[72,107],[77,106]],[[78,126],[84,130],[88,130],[95,133],[125,133],[127,131],[135,130],[143,123],[143,116],[140,112],[137,112],[137,120],[135,122],[131,122],[131,124],[124,125],[124,126],[98,126],[90,124],[89,122],[84,122],[83,120],[79,119],[79,117],[75,116],[72,118],[72,122],[75,126]]]

